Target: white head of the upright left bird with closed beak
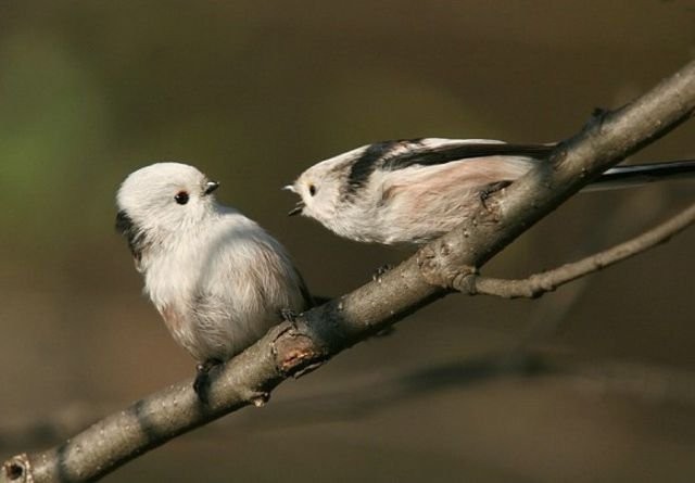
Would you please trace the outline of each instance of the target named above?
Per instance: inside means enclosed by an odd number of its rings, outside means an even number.
[[[219,185],[181,163],[156,163],[131,173],[116,196],[116,228],[139,257],[153,240],[191,230],[215,211]]]

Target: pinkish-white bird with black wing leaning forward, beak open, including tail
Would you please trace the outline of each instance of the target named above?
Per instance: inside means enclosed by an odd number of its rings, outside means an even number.
[[[553,149],[438,138],[364,145],[309,167],[287,186],[301,198],[290,215],[314,218],[355,241],[426,243],[470,216],[481,194],[508,186]],[[685,175],[695,175],[695,161],[617,166],[592,187]]]

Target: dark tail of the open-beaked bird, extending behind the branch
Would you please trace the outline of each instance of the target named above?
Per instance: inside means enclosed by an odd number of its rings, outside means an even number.
[[[608,169],[585,190],[612,190],[688,178],[695,178],[695,160],[621,165]]]

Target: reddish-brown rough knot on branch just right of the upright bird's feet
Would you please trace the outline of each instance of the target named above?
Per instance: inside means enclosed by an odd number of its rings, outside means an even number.
[[[300,318],[279,326],[271,348],[275,365],[285,377],[304,376],[328,358],[314,340],[311,328]]]

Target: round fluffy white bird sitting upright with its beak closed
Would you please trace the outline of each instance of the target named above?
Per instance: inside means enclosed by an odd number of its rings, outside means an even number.
[[[144,291],[169,332],[207,371],[258,340],[283,310],[312,305],[282,245],[212,194],[192,166],[157,163],[128,176],[117,194],[116,228],[130,246]]]

